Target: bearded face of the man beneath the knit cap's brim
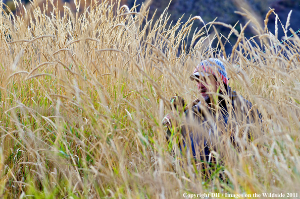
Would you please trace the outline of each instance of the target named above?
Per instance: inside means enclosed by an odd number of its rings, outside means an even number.
[[[218,91],[218,82],[216,82],[213,75],[200,78],[200,81],[196,80],[198,92],[201,93],[205,100],[208,100],[209,92],[216,93]]]

